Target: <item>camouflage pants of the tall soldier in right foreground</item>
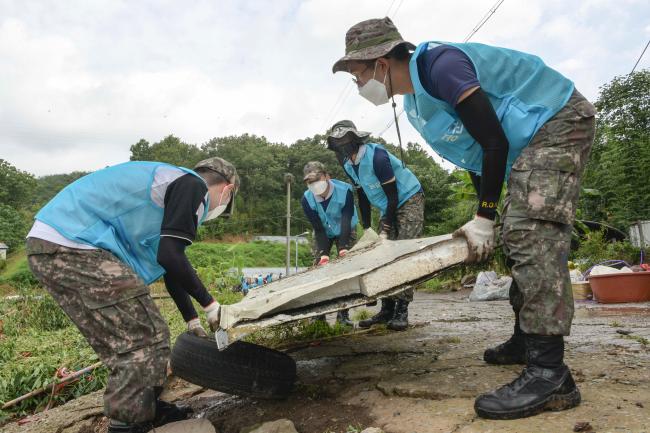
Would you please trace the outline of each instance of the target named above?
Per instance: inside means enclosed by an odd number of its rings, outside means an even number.
[[[571,330],[567,259],[595,112],[574,91],[512,166],[501,236],[513,277],[510,303],[529,334],[569,335]]]

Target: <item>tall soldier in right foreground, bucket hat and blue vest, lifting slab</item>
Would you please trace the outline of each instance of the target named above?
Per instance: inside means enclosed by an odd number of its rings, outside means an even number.
[[[389,18],[350,28],[346,55],[333,71],[352,74],[359,94],[375,105],[404,95],[413,127],[442,158],[469,171],[478,211],[454,235],[467,239],[470,260],[484,260],[494,248],[507,180],[501,237],[514,279],[515,328],[484,359],[526,368],[479,396],[476,412],[511,419],[577,406],[580,392],[564,364],[573,318],[567,257],[594,107],[537,56],[478,43],[415,46]]]

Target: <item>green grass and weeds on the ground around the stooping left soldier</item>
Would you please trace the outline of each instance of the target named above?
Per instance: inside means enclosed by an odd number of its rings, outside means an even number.
[[[282,267],[285,249],[282,244],[250,242],[245,244],[196,243],[188,248],[188,258],[210,292],[222,304],[232,304],[242,298],[233,292],[237,278],[227,274],[231,267]],[[293,258],[292,253],[292,258]],[[299,264],[311,264],[309,247],[299,248]],[[43,289],[35,284],[24,251],[16,251],[7,260],[0,273],[0,403],[12,400],[53,381],[56,370],[67,367],[78,370],[98,361],[97,355],[86,343],[77,328]],[[164,284],[151,286],[154,295],[167,295]],[[3,299],[8,294],[21,295],[19,299]],[[170,298],[156,299],[161,314],[169,324],[172,343],[185,331],[185,322]],[[197,306],[197,310],[200,309]],[[202,320],[205,318],[202,315]],[[204,322],[207,329],[207,323]],[[298,332],[302,338],[332,336],[344,329],[320,324],[305,326]],[[281,335],[283,331],[278,331]],[[102,389],[107,370],[101,367],[82,380],[65,387],[53,398],[61,403],[71,398]],[[49,394],[34,397],[15,406],[11,411],[0,411],[0,425],[10,417],[41,410]]]

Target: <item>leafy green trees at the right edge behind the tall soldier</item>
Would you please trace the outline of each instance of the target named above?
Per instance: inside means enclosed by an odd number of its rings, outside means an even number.
[[[650,70],[614,78],[601,88],[582,215],[621,229],[650,217]]]

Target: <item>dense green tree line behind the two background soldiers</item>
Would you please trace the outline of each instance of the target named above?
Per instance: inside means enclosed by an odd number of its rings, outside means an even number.
[[[399,149],[380,142],[395,155]],[[202,230],[202,236],[211,238],[223,234],[284,234],[286,233],[286,184],[284,176],[294,177],[291,188],[292,233],[302,233],[311,228],[303,215],[300,200],[306,189],[302,182],[303,167],[308,161],[321,161],[333,178],[349,181],[333,152],[326,150],[325,137],[306,137],[286,146],[271,143],[264,137],[243,134],[215,137],[200,148],[169,136],[150,145],[141,139],[131,146],[131,160],[166,161],[176,165],[194,163],[203,158],[219,156],[237,167],[241,188],[235,202],[236,214],[229,220],[217,220]],[[450,178],[435,164],[419,145],[409,143],[405,150],[408,167],[420,179],[426,196],[425,224],[445,220],[443,209],[448,206]],[[376,221],[375,221],[376,222]]]

